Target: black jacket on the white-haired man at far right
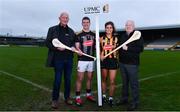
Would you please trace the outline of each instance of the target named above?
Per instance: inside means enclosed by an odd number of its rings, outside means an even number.
[[[123,44],[126,40],[128,40],[134,31],[129,35],[125,33],[119,39],[120,45]],[[128,50],[123,50],[122,48],[119,50],[119,60],[123,64],[130,64],[130,65],[139,65],[140,63],[140,53],[143,51],[143,38],[141,37],[138,40],[135,40],[129,44],[127,44]]]

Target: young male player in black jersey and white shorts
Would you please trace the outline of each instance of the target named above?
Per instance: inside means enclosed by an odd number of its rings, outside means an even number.
[[[78,55],[78,66],[77,66],[77,79],[76,79],[76,99],[75,103],[78,106],[83,104],[81,99],[81,88],[84,75],[87,72],[86,80],[86,99],[95,102],[95,98],[91,93],[91,83],[93,79],[94,71],[94,59],[87,56],[81,55],[81,53],[86,53],[93,56],[95,52],[95,34],[90,31],[90,18],[83,17],[82,19],[82,31],[77,34],[76,49],[80,52]]]

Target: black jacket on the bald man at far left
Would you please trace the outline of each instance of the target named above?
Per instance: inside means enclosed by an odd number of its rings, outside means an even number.
[[[73,58],[72,51],[59,51],[52,45],[52,40],[54,38],[58,38],[59,41],[65,44],[66,46],[72,47],[74,46],[76,35],[74,31],[68,26],[64,28],[60,25],[56,25],[49,28],[46,38],[46,46],[49,48],[46,66],[49,67],[53,67],[53,62],[56,60],[65,60]]]

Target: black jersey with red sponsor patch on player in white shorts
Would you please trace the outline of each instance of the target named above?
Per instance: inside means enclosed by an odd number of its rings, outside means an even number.
[[[89,31],[81,31],[77,34],[76,42],[80,43],[80,49],[83,53],[93,56],[95,52],[95,33]],[[94,61],[92,58],[86,56],[78,56],[80,61]]]

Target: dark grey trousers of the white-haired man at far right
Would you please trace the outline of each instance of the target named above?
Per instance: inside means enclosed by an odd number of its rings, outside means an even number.
[[[139,82],[138,82],[138,65],[128,65],[120,63],[122,77],[122,96],[121,100],[128,101],[129,85],[131,88],[132,103],[139,103]]]

